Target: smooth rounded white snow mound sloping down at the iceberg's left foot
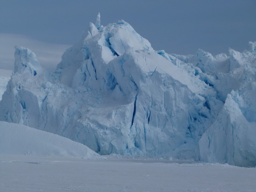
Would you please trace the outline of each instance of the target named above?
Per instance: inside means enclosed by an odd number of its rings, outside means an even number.
[[[83,144],[24,125],[0,121],[0,154],[100,158]]]

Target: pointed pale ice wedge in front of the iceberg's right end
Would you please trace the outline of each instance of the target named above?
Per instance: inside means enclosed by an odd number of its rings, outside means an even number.
[[[236,166],[256,166],[256,122],[248,122],[236,100],[228,94],[225,105],[199,141],[200,160]]]

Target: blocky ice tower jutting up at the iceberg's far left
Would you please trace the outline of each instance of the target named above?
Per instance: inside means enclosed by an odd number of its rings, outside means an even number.
[[[36,59],[36,54],[28,48],[21,46],[15,47],[15,63],[14,63],[14,73],[23,73],[29,71],[31,75],[36,75],[42,70],[38,60]]]

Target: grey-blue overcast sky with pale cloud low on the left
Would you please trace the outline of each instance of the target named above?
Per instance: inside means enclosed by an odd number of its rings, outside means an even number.
[[[125,20],[167,53],[216,55],[256,41],[256,0],[0,0],[0,69],[13,69],[15,45],[53,69],[98,12],[103,26]]]

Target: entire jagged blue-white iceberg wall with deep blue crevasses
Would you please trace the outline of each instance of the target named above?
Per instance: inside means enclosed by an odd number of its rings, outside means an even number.
[[[243,53],[230,49],[230,57],[201,49],[188,56],[154,51],[128,23],[103,27],[98,16],[53,73],[40,67],[32,51],[16,47],[0,120],[62,135],[99,154],[253,166],[255,52],[252,42]],[[230,100],[242,120],[231,114]],[[229,155],[235,146],[224,144],[234,137],[248,142]]]

